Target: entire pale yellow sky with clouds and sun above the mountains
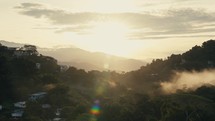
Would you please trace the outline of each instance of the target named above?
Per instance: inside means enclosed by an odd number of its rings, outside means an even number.
[[[0,40],[166,58],[215,39],[214,0],[0,0]]]

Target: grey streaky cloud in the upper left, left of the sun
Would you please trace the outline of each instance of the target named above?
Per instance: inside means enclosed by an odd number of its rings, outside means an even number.
[[[22,3],[21,6],[16,6],[16,9],[20,9],[20,13],[23,15],[31,16],[34,18],[46,18],[52,24],[57,25],[75,25],[86,24],[90,21],[95,21],[98,13],[70,13],[59,9],[46,8],[42,4],[34,3]]]

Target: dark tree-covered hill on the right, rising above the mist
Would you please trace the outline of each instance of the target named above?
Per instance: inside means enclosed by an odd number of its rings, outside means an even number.
[[[183,54],[172,54],[167,59],[154,59],[152,63],[142,66],[137,71],[163,75],[172,70],[201,71],[215,67],[215,40],[209,40],[202,46],[194,46]],[[137,72],[136,71],[136,72]]]

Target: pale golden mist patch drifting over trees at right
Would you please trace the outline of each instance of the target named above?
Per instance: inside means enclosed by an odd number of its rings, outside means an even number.
[[[161,83],[165,93],[175,93],[177,90],[195,90],[203,85],[215,85],[215,70],[177,72],[172,81]]]

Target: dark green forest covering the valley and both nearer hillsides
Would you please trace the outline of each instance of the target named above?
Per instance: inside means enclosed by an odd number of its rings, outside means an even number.
[[[50,121],[60,109],[57,117],[66,121],[215,121],[215,86],[165,94],[160,85],[175,71],[214,69],[214,53],[215,41],[209,40],[136,71],[86,72],[63,69],[32,45],[19,49],[0,45],[0,120],[14,120],[13,103],[26,101],[23,116],[16,120]],[[47,95],[29,100],[37,92]],[[97,114],[90,112],[95,103]],[[42,108],[43,104],[50,107]]]

